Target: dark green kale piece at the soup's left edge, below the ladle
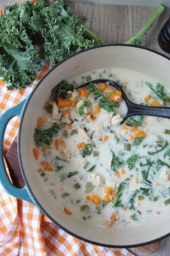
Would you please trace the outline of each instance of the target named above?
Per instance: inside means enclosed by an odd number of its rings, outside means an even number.
[[[40,131],[39,129],[35,129],[35,141],[37,145],[42,145],[42,143],[47,144],[50,146],[50,142],[52,142],[53,137],[55,134],[58,133],[58,130],[60,130],[60,126],[57,123],[54,123],[54,126],[51,128],[48,128],[46,130]]]

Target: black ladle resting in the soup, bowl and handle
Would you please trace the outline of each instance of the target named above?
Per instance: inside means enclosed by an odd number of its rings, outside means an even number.
[[[158,116],[170,119],[170,107],[152,107],[135,104],[127,98],[125,92],[123,91],[120,85],[108,79],[89,81],[86,84],[82,84],[81,86],[77,87],[76,89],[80,89],[81,87],[87,87],[91,82],[94,84],[105,83],[109,86],[112,86],[114,89],[122,92],[122,98],[127,108],[127,114],[124,117],[121,124],[123,124],[128,117],[134,115]]]

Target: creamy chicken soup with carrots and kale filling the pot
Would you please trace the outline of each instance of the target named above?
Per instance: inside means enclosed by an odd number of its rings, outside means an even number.
[[[121,124],[120,92],[103,83],[74,89],[100,78],[119,83],[135,103],[169,106],[168,90],[133,70],[97,69],[63,81],[38,119],[37,170],[63,214],[100,229],[141,225],[169,209],[170,121],[132,116]]]

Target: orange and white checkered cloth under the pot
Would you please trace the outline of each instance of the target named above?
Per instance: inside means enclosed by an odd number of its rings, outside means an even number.
[[[42,60],[41,64],[41,71],[37,73],[36,81],[26,89],[7,91],[6,83],[0,80],[0,115],[24,100],[51,68],[49,62]],[[4,155],[18,132],[19,121],[19,117],[14,117],[6,127]],[[6,170],[8,172],[7,165]],[[51,222],[35,205],[8,195],[1,184],[0,205],[1,256],[134,255],[126,249],[95,246],[67,234]]]

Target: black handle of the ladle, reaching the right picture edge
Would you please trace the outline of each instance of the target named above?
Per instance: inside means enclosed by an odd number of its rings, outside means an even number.
[[[128,108],[128,113],[124,118],[124,121],[133,115],[158,116],[170,119],[170,107],[142,106],[129,100],[128,102],[126,101],[126,106]]]

